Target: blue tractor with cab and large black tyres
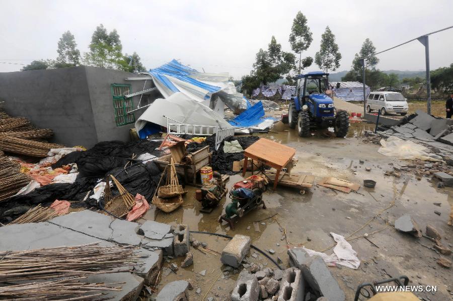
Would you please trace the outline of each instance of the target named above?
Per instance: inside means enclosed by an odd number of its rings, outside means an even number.
[[[289,104],[288,123],[297,128],[300,137],[308,137],[310,129],[334,128],[337,137],[345,137],[349,129],[349,114],[336,111],[329,89],[329,73],[312,71],[297,75],[295,95]]]

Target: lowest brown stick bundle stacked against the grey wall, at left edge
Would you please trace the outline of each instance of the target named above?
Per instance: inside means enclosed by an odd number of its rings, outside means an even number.
[[[50,149],[62,147],[64,146],[55,143],[44,143],[0,135],[0,149],[15,154],[45,158]]]

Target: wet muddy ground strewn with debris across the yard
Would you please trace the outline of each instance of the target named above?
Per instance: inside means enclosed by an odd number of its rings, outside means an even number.
[[[404,214],[409,214],[423,230],[426,224],[434,226],[443,237],[444,245],[453,247],[453,227],[447,225],[450,206],[453,205],[452,189],[437,188],[437,182],[428,177],[416,180],[414,174],[402,171],[400,178],[385,176],[384,172],[401,166],[407,162],[386,157],[378,153],[379,145],[365,144],[360,136],[365,129],[372,125],[366,123],[351,125],[348,137],[327,138],[317,133],[310,138],[297,136],[295,130],[282,125],[273,129],[272,133],[259,134],[281,144],[296,149],[295,157],[298,163],[293,171],[311,172],[315,181],[324,176],[335,176],[362,184],[364,179],[377,181],[373,189],[361,187],[358,192],[349,194],[334,191],[330,188],[315,185],[306,194],[301,195],[298,190],[279,186],[276,191],[267,190],[263,199],[267,209],[257,209],[242,218],[235,229],[230,229],[225,223],[219,224],[218,217],[224,213],[229,199],[222,199],[221,205],[211,214],[199,212],[200,204],[194,198],[195,188],[188,187],[184,206],[170,214],[156,213],[156,221],[176,225],[189,225],[192,231],[205,231],[233,236],[245,234],[252,238],[252,244],[262,250],[273,249],[271,255],[283,260],[281,266],[288,267],[287,247],[304,245],[309,249],[332,253],[334,241],[330,232],[351,238],[370,234],[368,239],[353,239],[350,242],[361,260],[358,270],[347,267],[329,268],[344,290],[347,299],[354,298],[357,285],[362,282],[381,280],[399,275],[407,275],[410,285],[436,285],[437,292],[418,292],[417,296],[426,300],[451,299],[449,290],[453,281],[452,269],[445,269],[436,264],[440,255],[431,250],[433,243],[422,237],[420,239],[397,232],[393,228],[394,221]],[[360,164],[359,160],[364,163]],[[366,171],[365,167],[370,167]],[[239,176],[231,176],[227,184],[229,188],[240,180]],[[389,207],[392,202],[394,206]],[[440,203],[440,207],[433,203]],[[440,212],[440,216],[434,211]],[[273,218],[257,223],[254,221],[266,219],[274,214]],[[148,213],[147,216],[150,216]],[[363,229],[364,224],[370,221]],[[386,221],[389,224],[386,224]],[[281,228],[280,228],[281,227]],[[288,246],[281,230],[286,230]],[[257,231],[259,230],[259,231]],[[359,231],[357,231],[359,230]],[[356,232],[357,231],[357,232]],[[379,231],[379,232],[376,232]],[[371,234],[376,232],[375,234]],[[221,252],[228,241],[223,238],[193,234],[194,239],[206,242],[208,247]],[[326,250],[328,249],[328,250]],[[175,273],[168,268],[162,271],[163,277],[158,288],[166,283],[190,278],[194,281],[194,290],[190,291],[190,299],[201,300],[214,297],[215,300],[225,299],[235,286],[238,274],[224,276],[221,273],[220,255],[203,254],[191,249],[194,255],[194,265],[188,268],[179,268]],[[254,253],[254,251],[252,251]],[[180,265],[183,258],[175,259]],[[274,264],[261,254],[258,258],[249,257],[252,262],[273,267]],[[449,256],[451,260],[451,255]],[[164,261],[165,266],[171,262]],[[206,270],[202,276],[200,271]],[[201,288],[197,294],[196,289]],[[208,292],[209,290],[209,292]]]

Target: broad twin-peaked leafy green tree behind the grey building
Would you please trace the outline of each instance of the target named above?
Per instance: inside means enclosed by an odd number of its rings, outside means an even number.
[[[120,37],[116,29],[107,34],[104,25],[96,27],[89,45],[90,52],[85,53],[85,62],[101,68],[124,70],[124,60]]]

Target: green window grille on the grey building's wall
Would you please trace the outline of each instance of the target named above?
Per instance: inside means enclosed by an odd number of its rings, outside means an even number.
[[[117,127],[124,126],[135,122],[133,113],[127,113],[133,110],[132,98],[126,98],[124,95],[130,94],[130,84],[111,85],[113,97],[113,112],[115,113],[115,123]]]

